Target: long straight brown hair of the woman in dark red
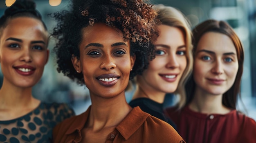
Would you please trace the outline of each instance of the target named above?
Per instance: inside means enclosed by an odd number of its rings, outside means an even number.
[[[237,58],[238,58],[238,72],[236,75],[236,79],[234,84],[231,86],[227,92],[223,94],[222,97],[222,104],[228,108],[236,109],[236,102],[237,97],[241,97],[240,95],[240,84],[243,74],[243,62],[244,62],[244,51],[243,51],[243,45],[239,39],[239,37],[236,35],[235,31],[231,28],[231,26],[224,21],[217,21],[217,20],[206,20],[196,26],[193,29],[193,54],[195,54],[197,44],[202,37],[207,32],[217,32],[227,35],[231,41],[233,42]],[[187,104],[193,99],[194,96],[194,89],[195,89],[195,81],[193,79],[193,76],[189,79],[189,81],[186,84],[186,94],[189,96],[189,100],[187,101]]]

